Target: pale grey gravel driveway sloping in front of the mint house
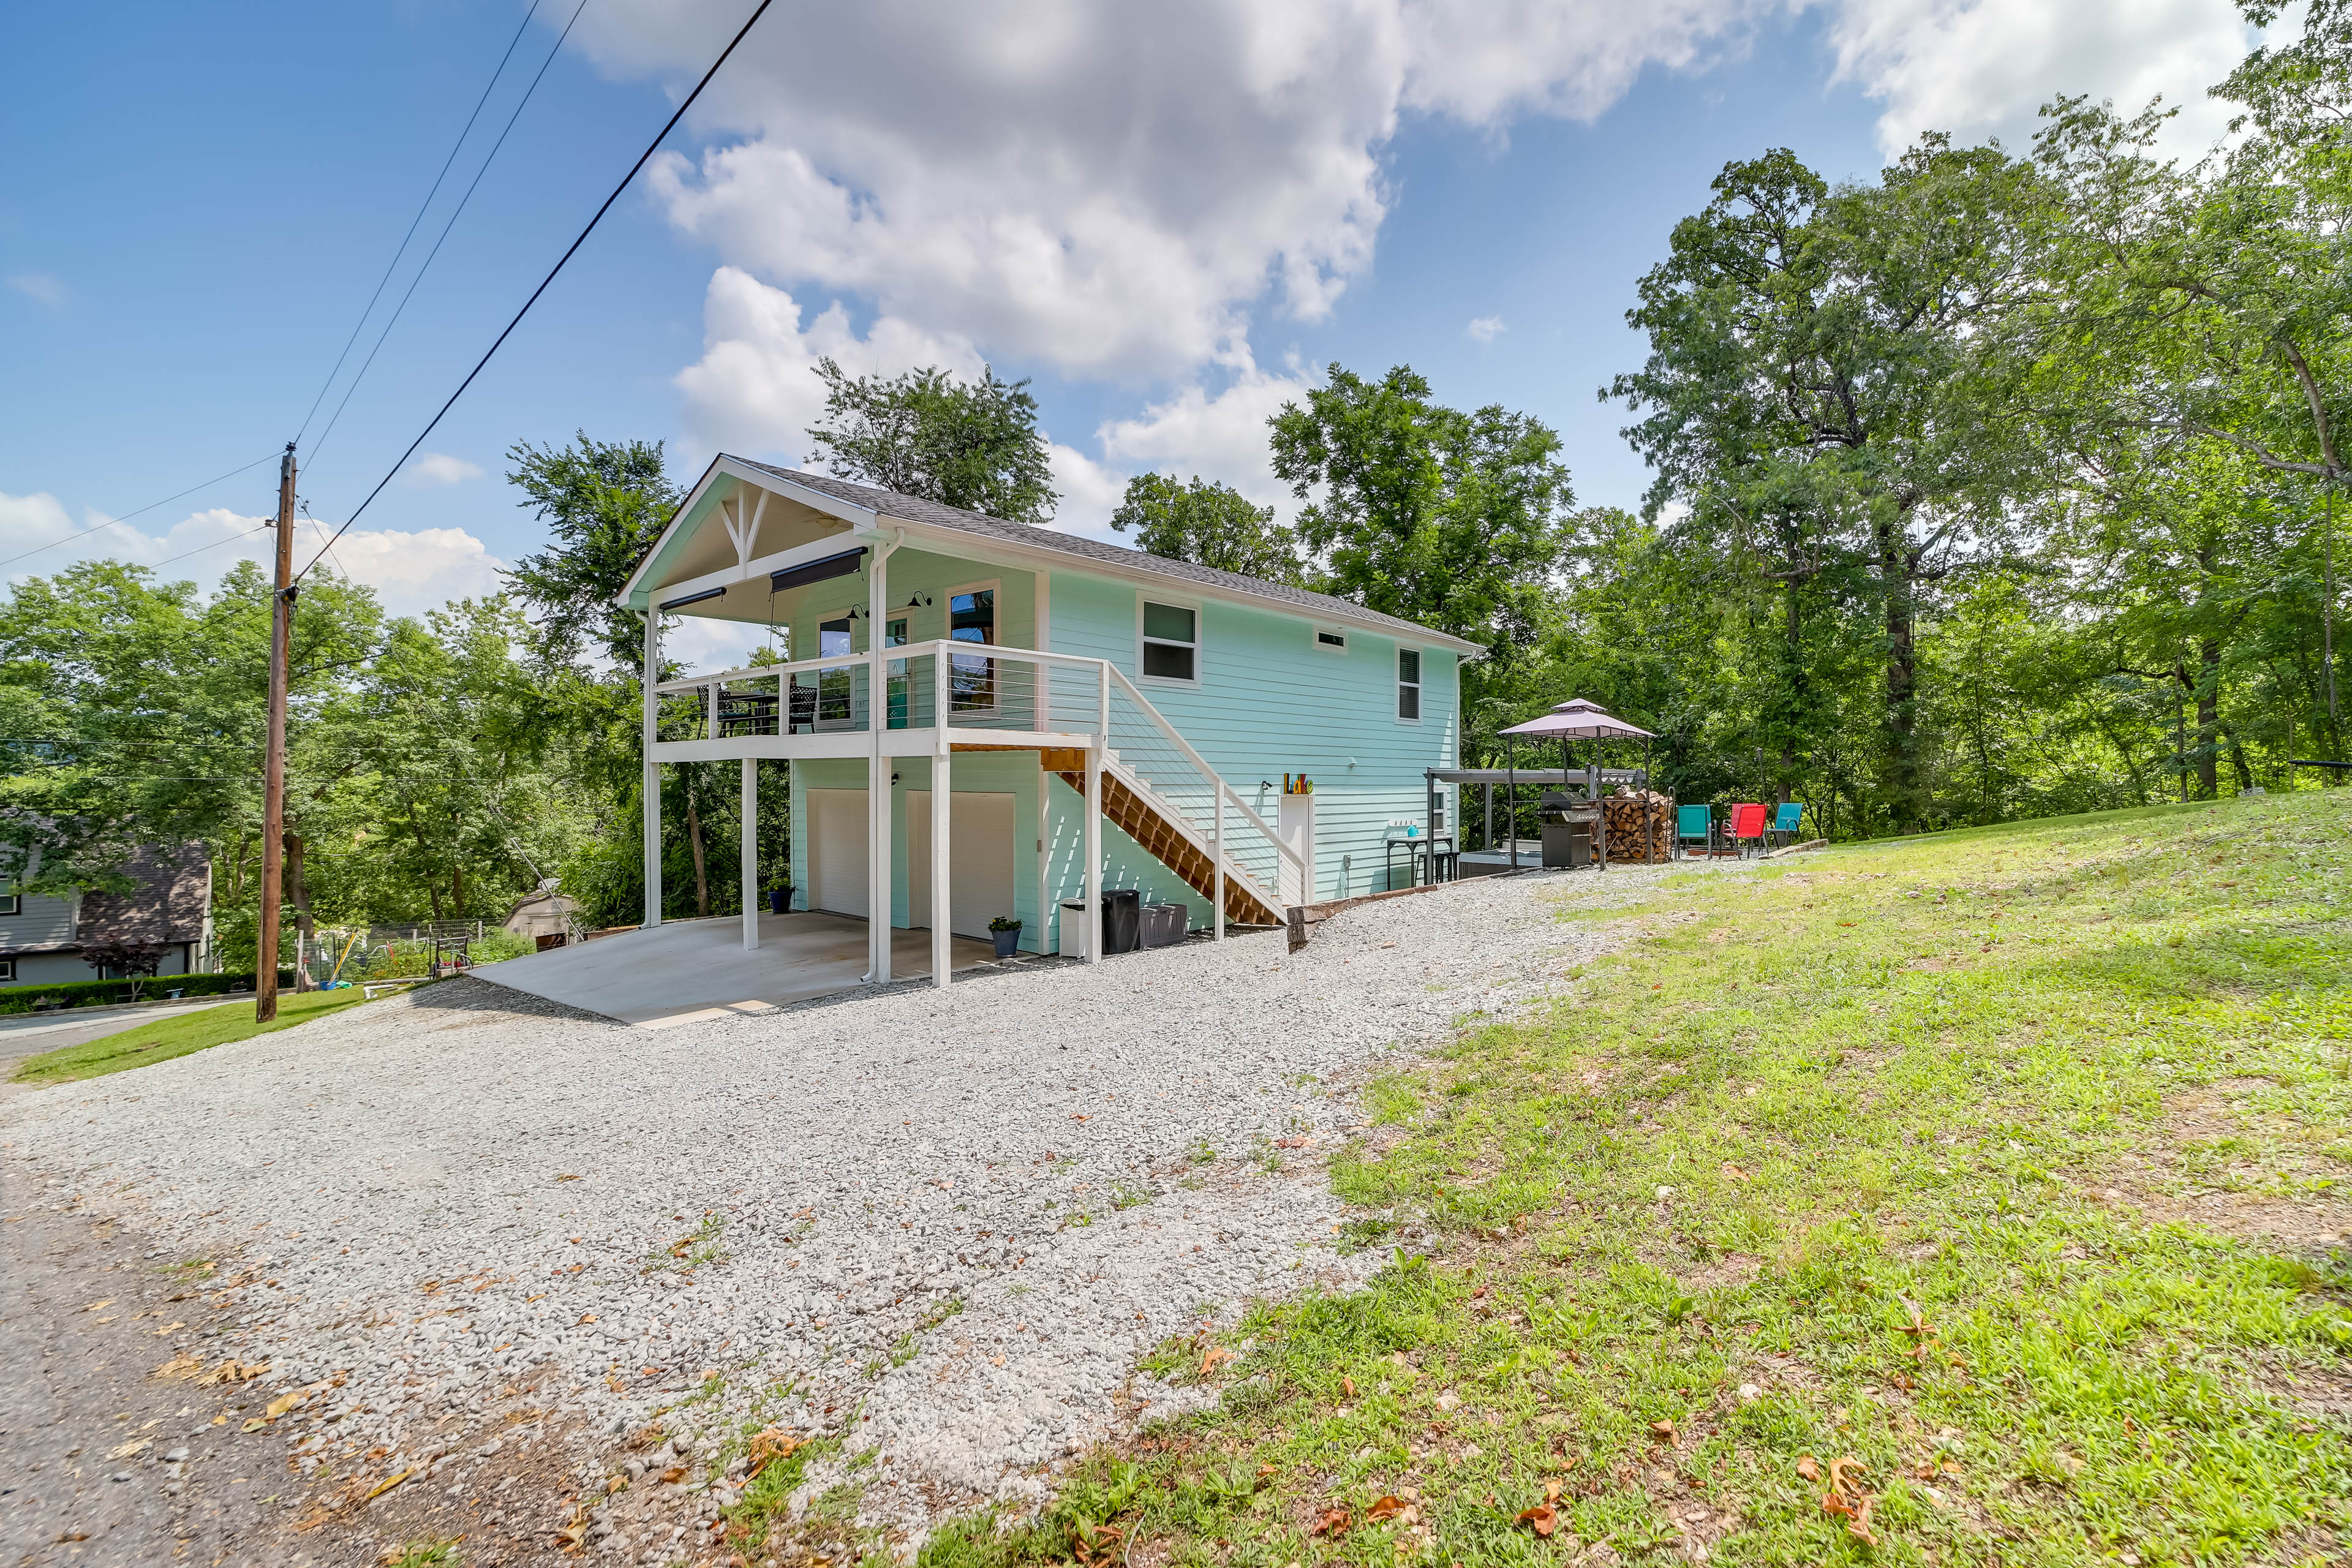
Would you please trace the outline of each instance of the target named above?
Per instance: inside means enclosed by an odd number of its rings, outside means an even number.
[[[1178,1408],[1134,1375],[1150,1345],[1376,1267],[1334,1248],[1322,1173],[1352,1088],[1599,952],[1564,896],[1656,877],[1470,882],[1350,910],[1298,954],[1192,943],[659,1034],[452,980],[14,1100],[9,1206],[78,1194],[214,1262],[226,1316],[158,1361],[327,1385],[280,1418],[313,1422],[315,1490],[285,1509],[407,1469],[475,1540],[553,1530],[463,1502],[487,1432],[560,1439],[595,1481],[694,1399],[668,1427],[703,1453],[743,1422],[840,1434],[844,1474],[877,1450],[861,1516],[920,1528]],[[694,1497],[675,1523],[581,1516],[588,1542],[668,1561],[724,1481]]]

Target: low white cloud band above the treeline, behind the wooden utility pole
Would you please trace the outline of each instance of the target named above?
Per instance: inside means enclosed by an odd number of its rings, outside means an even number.
[[[49,494],[0,494],[0,538],[24,541],[19,550],[40,550],[31,559],[5,567],[7,581],[54,576],[75,562],[120,559],[153,567],[165,583],[195,581],[214,588],[221,574],[240,559],[270,562],[275,534],[268,517],[247,517],[228,508],[188,512],[160,534],[103,512],[87,512],[80,524]],[[303,517],[294,534],[294,562],[306,564],[329,529]],[[456,597],[499,592],[499,562],[480,538],[463,529],[350,529],[334,541],[329,564],[341,567],[395,616],[414,616]]]

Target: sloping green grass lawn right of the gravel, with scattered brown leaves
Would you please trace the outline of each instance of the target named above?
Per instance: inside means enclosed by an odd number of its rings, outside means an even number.
[[[1371,1086],[1371,1288],[922,1561],[2352,1561],[2347,856],[2312,792],[1571,912],[1632,940]]]

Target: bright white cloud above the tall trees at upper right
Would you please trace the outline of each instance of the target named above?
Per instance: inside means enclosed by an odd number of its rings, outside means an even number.
[[[1999,136],[2023,150],[2034,110],[2058,94],[2112,99],[2126,113],[2161,94],[2180,106],[2169,143],[2194,153],[2223,134],[2230,106],[2206,96],[2246,54],[2234,0],[1844,0],[1830,12],[1837,80],[1879,99],[1879,148],[1919,132]]]

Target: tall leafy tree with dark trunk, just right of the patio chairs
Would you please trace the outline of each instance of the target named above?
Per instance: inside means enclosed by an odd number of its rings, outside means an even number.
[[[1628,313],[1649,362],[1604,393],[1642,414],[1625,435],[1658,470],[1653,505],[1696,508],[1726,482],[1802,489],[1811,527],[1875,562],[1903,827],[1929,806],[1922,592],[2002,531],[2027,484],[2013,367],[1987,327],[2032,289],[2044,205],[2030,165],[1943,136],[1875,186],[1832,190],[1788,150],[1726,165]]]

